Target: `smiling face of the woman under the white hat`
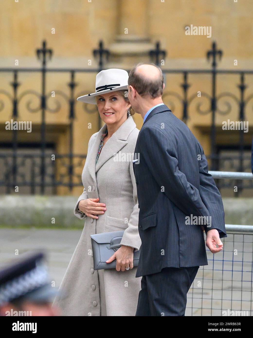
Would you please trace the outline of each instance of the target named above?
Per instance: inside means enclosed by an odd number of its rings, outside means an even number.
[[[117,91],[98,96],[97,108],[99,115],[106,124],[117,123],[126,119],[130,103]]]

